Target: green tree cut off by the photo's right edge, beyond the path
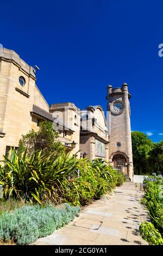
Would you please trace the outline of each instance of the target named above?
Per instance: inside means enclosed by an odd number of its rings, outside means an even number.
[[[148,169],[151,173],[163,174],[163,141],[153,144],[149,153]]]

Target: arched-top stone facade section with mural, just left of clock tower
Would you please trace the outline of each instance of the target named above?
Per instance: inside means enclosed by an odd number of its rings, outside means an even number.
[[[101,106],[89,106],[81,115],[80,149],[86,157],[109,159],[109,137],[105,115]]]

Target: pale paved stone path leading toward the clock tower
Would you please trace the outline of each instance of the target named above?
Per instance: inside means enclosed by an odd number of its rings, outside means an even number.
[[[148,245],[139,236],[139,225],[149,219],[140,200],[143,192],[126,182],[82,210],[79,217],[40,238],[36,245]]]

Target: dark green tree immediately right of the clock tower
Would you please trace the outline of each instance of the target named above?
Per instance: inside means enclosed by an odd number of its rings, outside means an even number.
[[[134,174],[148,174],[149,152],[153,148],[153,142],[143,132],[131,132]]]

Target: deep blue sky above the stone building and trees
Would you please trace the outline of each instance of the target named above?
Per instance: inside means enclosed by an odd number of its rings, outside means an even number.
[[[39,66],[37,86],[49,104],[106,109],[106,86],[127,82],[131,130],[160,141],[162,10],[162,0],[6,0],[0,43]]]

